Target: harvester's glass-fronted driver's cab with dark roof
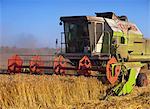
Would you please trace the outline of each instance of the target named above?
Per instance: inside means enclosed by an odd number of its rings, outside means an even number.
[[[60,19],[64,22],[66,53],[110,54],[111,34],[105,30],[103,18],[72,16]]]

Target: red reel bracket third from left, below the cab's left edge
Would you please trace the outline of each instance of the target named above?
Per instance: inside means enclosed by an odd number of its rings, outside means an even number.
[[[62,55],[55,57],[53,65],[54,73],[65,75],[65,69],[63,69],[63,67],[66,67],[66,64],[66,59]]]

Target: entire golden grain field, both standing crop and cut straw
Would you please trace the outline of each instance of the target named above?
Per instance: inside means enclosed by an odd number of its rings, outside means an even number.
[[[100,100],[109,86],[92,77],[0,75],[1,109],[149,109],[150,85]]]

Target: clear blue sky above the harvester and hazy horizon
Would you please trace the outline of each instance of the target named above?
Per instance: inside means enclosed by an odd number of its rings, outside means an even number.
[[[113,11],[150,38],[150,0],[0,0],[0,45],[55,47],[60,16]]]

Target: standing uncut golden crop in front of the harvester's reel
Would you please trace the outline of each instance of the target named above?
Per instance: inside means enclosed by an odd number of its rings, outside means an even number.
[[[49,75],[0,75],[0,107],[59,108],[99,99],[105,93],[96,78]],[[65,108],[68,108],[65,107]]]

